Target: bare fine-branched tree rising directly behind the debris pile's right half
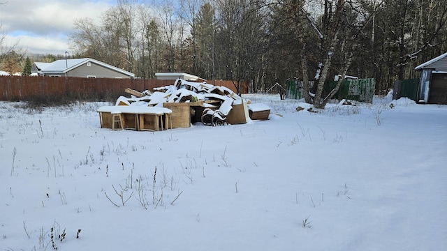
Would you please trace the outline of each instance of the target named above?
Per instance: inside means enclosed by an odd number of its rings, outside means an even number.
[[[267,43],[267,12],[261,1],[216,1],[218,73],[233,80],[238,92],[261,66]]]

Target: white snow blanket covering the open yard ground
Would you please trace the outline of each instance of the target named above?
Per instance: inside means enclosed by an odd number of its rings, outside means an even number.
[[[0,102],[0,249],[447,249],[446,105],[242,98],[270,119],[113,131],[108,103]]]

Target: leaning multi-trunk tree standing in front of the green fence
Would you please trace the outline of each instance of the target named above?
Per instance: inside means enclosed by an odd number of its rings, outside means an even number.
[[[312,93],[311,96],[314,107],[322,109],[341,86],[351,66],[358,41],[363,33],[363,27],[369,22],[371,15],[362,9],[360,3],[346,0],[335,2],[325,0],[323,15],[319,23],[315,22],[312,14],[304,7],[301,10],[313,28],[314,36],[319,38],[320,62],[314,77],[315,93]],[[305,56],[302,60],[307,62],[305,52],[303,51]],[[332,68],[335,58],[338,58],[341,63],[338,67]],[[325,82],[329,79],[331,72],[340,74],[342,77],[339,78],[335,89],[329,93],[323,93]],[[308,86],[305,86],[305,89],[309,89]]]

